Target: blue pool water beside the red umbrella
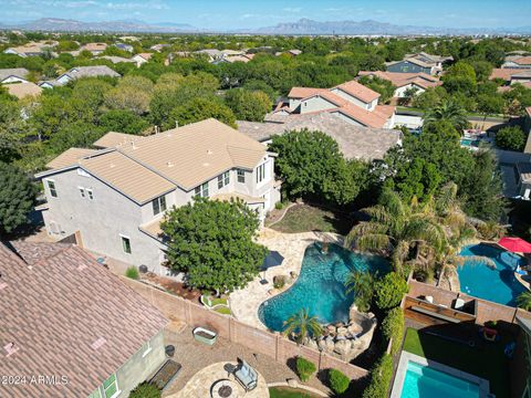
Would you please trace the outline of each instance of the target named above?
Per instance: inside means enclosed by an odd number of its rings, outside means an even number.
[[[478,263],[465,262],[457,268],[461,292],[494,303],[517,306],[517,297],[525,292],[525,287],[514,277],[517,265],[524,260],[504,250],[487,244],[466,247],[461,255],[483,255],[496,263],[496,270]]]

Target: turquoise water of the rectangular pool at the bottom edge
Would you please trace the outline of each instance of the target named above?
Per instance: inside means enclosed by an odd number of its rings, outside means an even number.
[[[433,367],[407,363],[400,398],[472,398],[479,397],[479,386],[471,381],[436,370]]]

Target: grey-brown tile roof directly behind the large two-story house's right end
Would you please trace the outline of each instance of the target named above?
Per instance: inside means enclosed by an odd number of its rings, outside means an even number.
[[[330,113],[285,117],[287,123],[238,122],[238,129],[259,142],[290,130],[308,128],[334,138],[350,159],[383,159],[387,150],[400,143],[402,133],[395,129],[368,128],[350,124]]]

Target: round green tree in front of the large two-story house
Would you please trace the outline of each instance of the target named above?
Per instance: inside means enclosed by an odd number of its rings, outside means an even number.
[[[232,291],[253,280],[267,249],[254,242],[260,221],[241,201],[197,197],[169,211],[160,228],[169,266],[197,289]]]

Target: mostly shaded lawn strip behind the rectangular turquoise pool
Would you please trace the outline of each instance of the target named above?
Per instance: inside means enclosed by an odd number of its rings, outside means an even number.
[[[504,344],[469,347],[408,328],[404,350],[485,378],[497,398],[509,398],[509,359],[503,354]]]

